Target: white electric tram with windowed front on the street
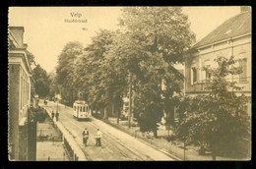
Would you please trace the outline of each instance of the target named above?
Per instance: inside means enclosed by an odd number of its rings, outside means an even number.
[[[86,101],[77,100],[73,103],[73,116],[77,120],[87,120],[91,115],[89,104]]]

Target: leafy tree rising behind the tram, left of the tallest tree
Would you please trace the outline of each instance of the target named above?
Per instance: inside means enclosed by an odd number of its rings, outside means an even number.
[[[120,99],[117,99],[118,94],[114,94],[117,91],[114,86],[120,82],[116,81],[111,62],[106,61],[104,55],[117,33],[117,31],[99,29],[96,36],[92,38],[92,43],[76,60],[75,84],[95,108],[106,108],[106,105],[118,105],[116,102],[120,102]],[[107,118],[106,109],[104,117]]]

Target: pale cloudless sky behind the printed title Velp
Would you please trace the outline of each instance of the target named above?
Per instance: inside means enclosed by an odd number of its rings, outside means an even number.
[[[122,7],[10,7],[9,27],[24,27],[24,43],[47,73],[55,70],[65,44],[91,43],[99,28],[116,29]],[[183,7],[190,28],[199,41],[230,17],[240,13],[239,6]],[[83,23],[67,23],[66,20]]]

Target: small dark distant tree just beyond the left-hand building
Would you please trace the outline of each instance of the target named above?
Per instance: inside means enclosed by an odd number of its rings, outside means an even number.
[[[46,71],[39,64],[32,70],[32,79],[34,81],[33,87],[35,93],[42,97],[47,96],[49,92],[49,81]]]

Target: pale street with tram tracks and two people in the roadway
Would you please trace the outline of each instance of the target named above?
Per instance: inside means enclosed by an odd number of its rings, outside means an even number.
[[[107,124],[91,117],[89,121],[77,121],[72,116],[72,108],[65,107],[48,101],[47,105],[42,104],[40,100],[39,105],[45,110],[56,112],[58,108],[59,122],[70,133],[74,140],[78,143],[80,148],[85,153],[85,156],[90,161],[152,161],[152,160],[174,160],[173,158],[165,155],[159,150],[138,141],[137,139],[111,127]],[[55,121],[55,119],[54,119]],[[83,144],[82,132],[87,128],[90,137],[88,145]],[[102,132],[101,146],[96,146],[96,130]]]

